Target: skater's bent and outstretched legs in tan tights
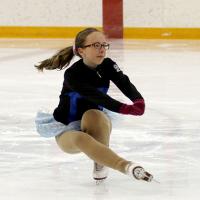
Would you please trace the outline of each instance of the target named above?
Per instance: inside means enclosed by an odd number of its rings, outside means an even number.
[[[99,117],[99,115],[101,117]],[[57,136],[56,141],[64,152],[84,152],[95,162],[125,173],[125,167],[130,162],[119,157],[107,147],[109,144],[111,124],[108,118],[105,116],[104,118],[103,116],[104,114],[100,111],[87,111],[81,123],[83,130],[87,133],[82,131],[65,132]],[[95,121],[93,121],[93,119],[95,119]]]

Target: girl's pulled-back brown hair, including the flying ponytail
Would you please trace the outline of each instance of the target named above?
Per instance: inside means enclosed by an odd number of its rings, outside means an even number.
[[[96,28],[86,28],[86,29],[80,31],[76,35],[74,47],[69,46],[64,49],[61,49],[55,55],[53,55],[51,58],[41,61],[38,65],[35,65],[35,67],[39,71],[43,71],[44,69],[46,69],[46,70],[53,70],[53,69],[62,70],[64,68],[66,68],[70,64],[72,58],[75,55],[81,57],[78,54],[78,48],[84,46],[87,36],[93,32],[99,32],[99,30]]]

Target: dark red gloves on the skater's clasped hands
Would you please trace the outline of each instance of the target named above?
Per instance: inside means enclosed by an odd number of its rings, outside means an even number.
[[[145,110],[145,103],[143,99],[138,99],[133,102],[133,105],[122,104],[119,113],[125,115],[143,115]]]

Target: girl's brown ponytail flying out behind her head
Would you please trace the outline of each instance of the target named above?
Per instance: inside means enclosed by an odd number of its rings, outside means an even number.
[[[62,70],[70,64],[73,57],[74,57],[73,47],[69,46],[69,47],[66,47],[66,48],[60,50],[58,53],[53,55],[51,58],[41,61],[38,65],[35,65],[35,67],[39,71],[43,71],[43,69]]]

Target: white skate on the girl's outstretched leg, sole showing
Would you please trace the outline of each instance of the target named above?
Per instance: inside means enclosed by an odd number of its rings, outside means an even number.
[[[143,180],[147,182],[151,182],[153,176],[146,172],[143,167],[138,164],[130,163],[126,167],[126,174],[130,177],[134,177],[137,180]]]

